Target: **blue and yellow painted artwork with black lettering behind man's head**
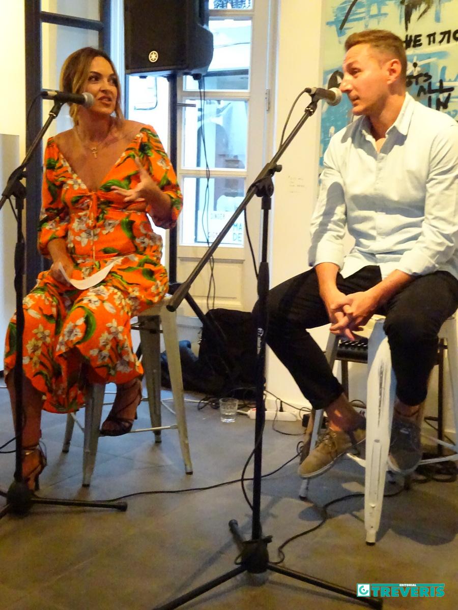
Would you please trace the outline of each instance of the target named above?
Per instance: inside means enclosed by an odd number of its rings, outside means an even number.
[[[338,86],[345,39],[367,29],[391,30],[404,40],[407,91],[458,121],[458,0],[325,0],[324,84]],[[346,95],[339,106],[324,104],[321,159],[332,135],[351,121]]]

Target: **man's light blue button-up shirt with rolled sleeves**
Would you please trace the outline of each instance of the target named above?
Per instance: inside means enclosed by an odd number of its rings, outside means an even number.
[[[345,228],[355,239],[344,255]],[[405,95],[380,152],[367,117],[335,134],[311,221],[311,266],[344,277],[379,265],[382,277],[449,271],[458,279],[458,124]]]

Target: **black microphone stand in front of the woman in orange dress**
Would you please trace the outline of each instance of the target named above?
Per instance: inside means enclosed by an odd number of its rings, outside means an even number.
[[[34,142],[32,142],[29,150],[24,157],[21,165],[16,168],[10,175],[7,185],[0,199],[0,210],[5,202],[14,197],[16,201],[16,221],[17,221],[17,240],[14,255],[15,278],[14,286],[16,290],[16,364],[14,367],[14,385],[16,393],[15,402],[15,431],[16,431],[16,465],[14,473],[14,481],[10,485],[9,490],[4,492],[0,490],[0,496],[6,498],[7,503],[0,510],[0,519],[10,512],[16,515],[25,515],[32,508],[33,504],[53,504],[53,506],[79,506],[91,508],[114,508],[118,511],[126,511],[126,502],[109,502],[109,501],[85,501],[85,500],[59,500],[58,498],[40,498],[27,486],[24,481],[22,472],[22,437],[24,426],[24,409],[23,409],[23,334],[24,334],[24,310],[23,310],[23,276],[24,276],[24,254],[25,242],[22,231],[22,215],[24,209],[24,199],[26,198],[26,187],[24,187],[21,179],[26,177],[26,166],[34,154],[35,149],[41,142],[43,135],[52,121],[57,117],[61,107],[65,102],[56,101],[53,108],[49,112],[48,119],[43,125]]]

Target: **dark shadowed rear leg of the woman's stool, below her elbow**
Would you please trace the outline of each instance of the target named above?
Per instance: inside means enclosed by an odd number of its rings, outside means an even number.
[[[161,335],[159,316],[140,318],[140,342],[142,344],[142,365],[145,370],[145,379],[148,392],[148,406],[150,407],[151,426],[158,428],[162,425],[161,416]],[[161,431],[154,431],[154,440],[161,442]]]

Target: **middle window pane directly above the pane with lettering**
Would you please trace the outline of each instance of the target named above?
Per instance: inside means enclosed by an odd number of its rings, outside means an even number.
[[[247,109],[241,100],[187,99],[184,110],[184,167],[244,169],[247,160]],[[205,146],[204,146],[205,138]]]

